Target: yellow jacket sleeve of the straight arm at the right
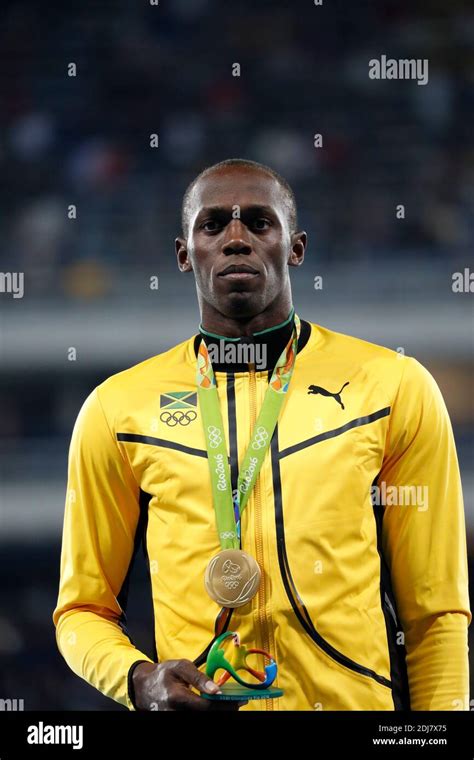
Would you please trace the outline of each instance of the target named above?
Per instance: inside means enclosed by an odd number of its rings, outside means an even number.
[[[471,611],[454,436],[432,375],[416,359],[400,361],[378,485],[386,489],[382,548],[404,630],[411,709],[468,710]]]

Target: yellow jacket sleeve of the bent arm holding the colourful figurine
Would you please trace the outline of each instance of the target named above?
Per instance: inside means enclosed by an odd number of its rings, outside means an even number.
[[[139,512],[139,487],[96,388],[79,412],[71,439],[53,622],[58,648],[74,673],[130,710],[131,666],[138,660],[151,662],[124,632],[118,601]]]

